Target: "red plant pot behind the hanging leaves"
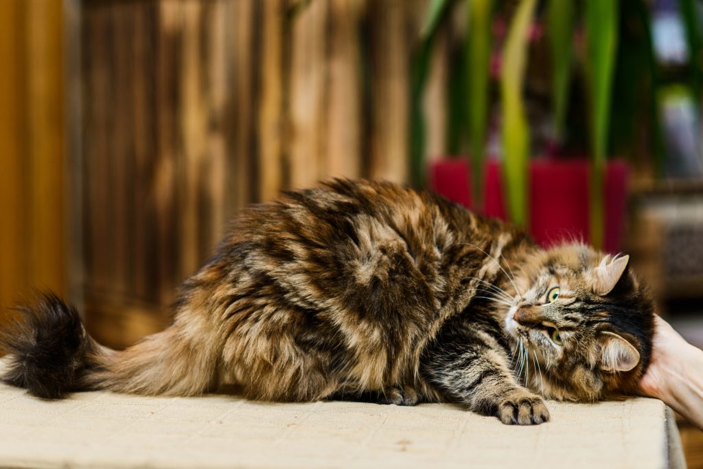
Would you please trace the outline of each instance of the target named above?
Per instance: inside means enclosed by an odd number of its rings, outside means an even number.
[[[542,160],[530,163],[529,229],[543,246],[562,240],[590,239],[588,229],[588,173],[584,160]],[[430,188],[465,207],[471,207],[471,183],[466,160],[432,162]],[[605,171],[605,250],[621,248],[626,203],[627,167],[612,161]],[[507,219],[501,167],[486,162],[485,210],[489,217]]]

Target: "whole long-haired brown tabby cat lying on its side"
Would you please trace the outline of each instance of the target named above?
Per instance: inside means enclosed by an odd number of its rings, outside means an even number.
[[[254,399],[450,401],[548,420],[541,394],[636,390],[654,307],[628,257],[522,231],[426,192],[334,180],[254,205],[181,290],[172,325],[122,352],[53,295],[6,328],[6,383]]]

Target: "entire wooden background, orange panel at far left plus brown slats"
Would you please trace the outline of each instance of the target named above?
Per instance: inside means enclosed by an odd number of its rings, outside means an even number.
[[[241,207],[329,176],[408,181],[427,4],[3,0],[0,302],[53,288],[98,340],[128,345],[165,326]]]

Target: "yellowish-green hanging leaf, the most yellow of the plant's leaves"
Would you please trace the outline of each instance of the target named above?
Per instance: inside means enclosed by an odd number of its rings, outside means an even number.
[[[527,226],[527,163],[529,129],[522,100],[528,31],[536,0],[522,0],[510,23],[503,47],[501,95],[503,96],[503,172],[508,211],[515,224]]]

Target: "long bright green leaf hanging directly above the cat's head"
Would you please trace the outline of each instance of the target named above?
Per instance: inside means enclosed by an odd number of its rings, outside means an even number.
[[[591,244],[602,249],[605,236],[604,184],[615,55],[618,3],[586,1],[586,72],[591,89]]]

